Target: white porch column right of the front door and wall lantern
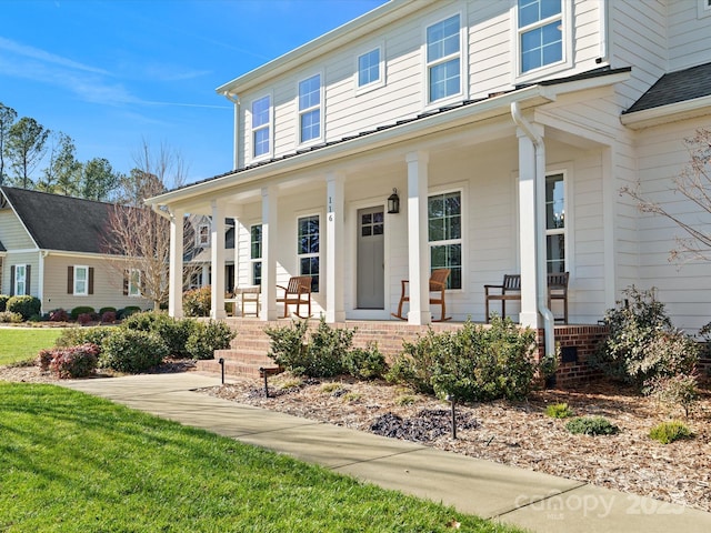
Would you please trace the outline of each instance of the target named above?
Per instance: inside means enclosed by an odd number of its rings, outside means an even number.
[[[428,161],[427,152],[410,152],[408,163],[408,260],[410,312],[408,323],[429,324],[430,313],[430,257],[427,244],[427,193]]]

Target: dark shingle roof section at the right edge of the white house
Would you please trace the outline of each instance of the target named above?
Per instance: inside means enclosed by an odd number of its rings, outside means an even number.
[[[684,102],[711,94],[711,63],[662,76],[622,114]]]

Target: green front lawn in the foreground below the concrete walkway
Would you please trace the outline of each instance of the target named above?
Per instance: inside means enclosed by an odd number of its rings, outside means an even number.
[[[520,531],[54,385],[0,421],[0,531]]]

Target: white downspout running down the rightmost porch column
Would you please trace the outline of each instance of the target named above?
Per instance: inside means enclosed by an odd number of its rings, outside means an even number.
[[[555,331],[553,313],[548,309],[548,275],[545,273],[545,261],[542,259],[542,251],[545,250],[545,235],[542,231],[545,228],[545,211],[541,209],[540,200],[545,198],[545,144],[543,138],[533,131],[531,123],[521,114],[519,102],[511,102],[511,118],[515,125],[533,143],[535,152],[535,199],[533,209],[535,210],[535,288],[538,293],[538,312],[543,316],[543,331],[545,339],[545,354],[555,353]]]

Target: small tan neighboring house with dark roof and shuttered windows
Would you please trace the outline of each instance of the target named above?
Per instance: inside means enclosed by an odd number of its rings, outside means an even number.
[[[151,309],[140,272],[123,276],[104,253],[112,204],[0,187],[0,293],[30,294],[42,312],[90,305]]]

